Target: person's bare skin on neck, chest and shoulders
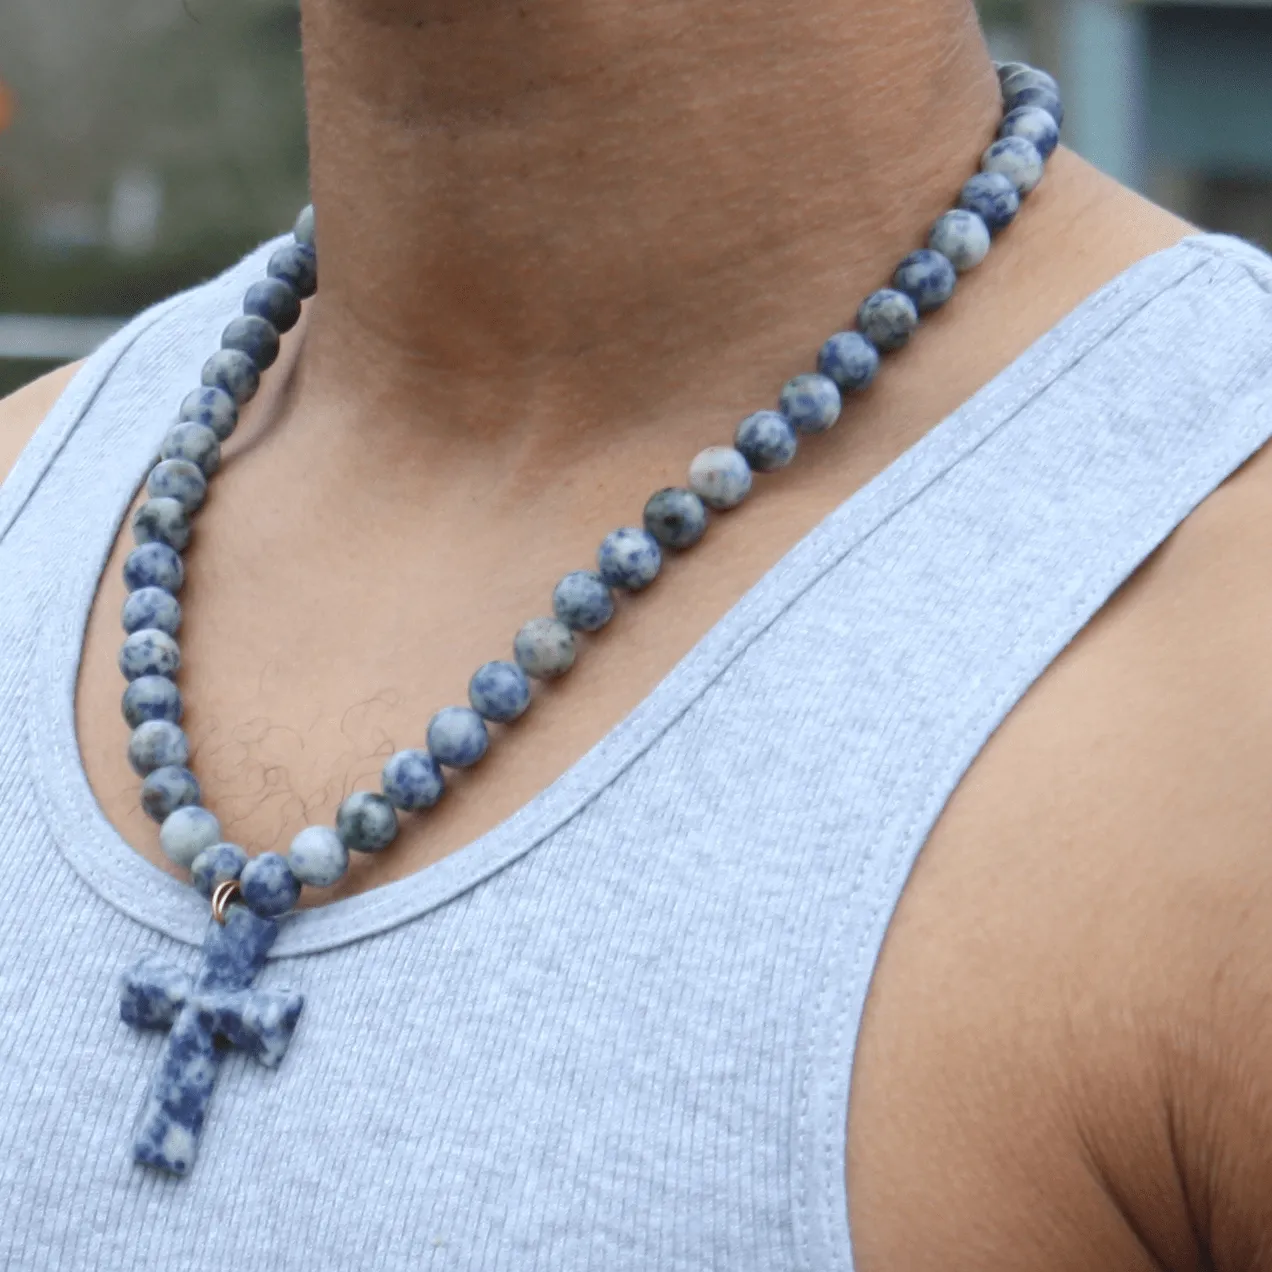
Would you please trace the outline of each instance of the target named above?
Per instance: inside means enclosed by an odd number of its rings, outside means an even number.
[[[417,744],[565,570],[806,369],[997,112],[964,0],[304,10],[323,290],[226,448],[183,597],[196,766],[253,851]],[[515,812],[832,509],[1187,233],[1057,154],[860,410],[623,605],[534,728],[338,894]],[[0,407],[0,466],[56,387]],[[89,625],[80,747],[109,819],[168,869],[118,717],[128,547]],[[1047,673],[943,818],[857,1060],[861,1272],[1272,1268],[1269,555],[1261,455]]]

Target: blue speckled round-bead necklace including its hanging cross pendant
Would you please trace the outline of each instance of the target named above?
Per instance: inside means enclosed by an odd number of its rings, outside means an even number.
[[[249,859],[221,838],[216,817],[201,806],[198,780],[187,767],[176,675],[181,650],[177,594],[184,581],[181,553],[191,519],[220,464],[220,448],[238,424],[239,407],[257,392],[279,356],[280,336],[300,318],[318,287],[314,212],[307,207],[291,242],[270,258],[266,277],[244,296],[243,313],[225,328],[221,347],[202,370],[202,385],[181,403],[146,478],[146,501],[132,518],[136,547],[123,565],[127,639],[120,669],[128,681],[123,716],[132,729],[128,761],[142,778],[141,804],[159,823],[159,842],[190,871],[211,903],[212,921],[196,977],[150,955],[123,976],[120,1013],[136,1028],[167,1029],[159,1071],[134,1137],[136,1161],[174,1175],[195,1163],[220,1056],[226,1047],[262,1065],[281,1063],[304,1000],[286,990],[253,987],[304,885],[329,888],[349,869],[350,852],[382,852],[397,836],[399,813],[432,808],[446,789],[445,770],[469,768],[488,747],[487,722],[511,724],[532,702],[530,682],[551,681],[574,665],[576,633],[604,627],[614,591],[633,594],[659,574],[664,552],[702,539],[712,513],[736,508],[754,473],[776,472],[795,457],[801,434],[826,432],[845,399],[868,388],[880,355],[904,346],[920,317],[944,305],[958,276],[979,265],[992,238],[1015,219],[1020,201],[1042,181],[1060,142],[1060,90],[1044,71],[1023,62],[997,66],[1004,118],[981,170],[963,187],[959,206],[932,226],[927,247],[907,256],[892,286],[868,296],[856,329],[822,346],[818,369],[781,391],[777,410],[747,416],[731,446],[709,446],[689,464],[688,485],[656,491],[642,525],[613,530],[595,570],[567,574],[552,593],[552,616],[532,618],[513,641],[511,661],[478,668],[468,706],[444,707],[429,722],[426,745],[399,750],[384,766],[380,791],[356,791],[337,809],[335,826],[310,826],[287,852]]]

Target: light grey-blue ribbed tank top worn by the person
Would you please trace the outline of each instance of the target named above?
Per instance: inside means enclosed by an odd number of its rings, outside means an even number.
[[[848,1272],[862,1005],[915,859],[1030,684],[1272,434],[1272,261],[1117,279],[827,516],[558,781],[285,921],[277,1070],[135,1166],[141,953],[206,902],[137,857],[74,688],[121,518],[268,248],[102,349],[0,488],[0,1266]],[[121,745],[123,734],[121,731]]]

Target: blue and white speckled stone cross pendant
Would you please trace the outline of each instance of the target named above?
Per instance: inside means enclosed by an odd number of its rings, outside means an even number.
[[[215,920],[197,981],[148,955],[123,976],[120,1015],[137,1029],[168,1029],[163,1062],[137,1121],[137,1161],[190,1174],[207,1102],[228,1043],[276,1067],[287,1051],[304,999],[289,990],[253,990],[279,925],[245,906]]]

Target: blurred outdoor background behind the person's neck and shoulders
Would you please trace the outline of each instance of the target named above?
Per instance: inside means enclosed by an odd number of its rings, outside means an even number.
[[[982,0],[1065,140],[1272,248],[1272,0]],[[0,0],[0,396],[305,202],[296,0]]]

